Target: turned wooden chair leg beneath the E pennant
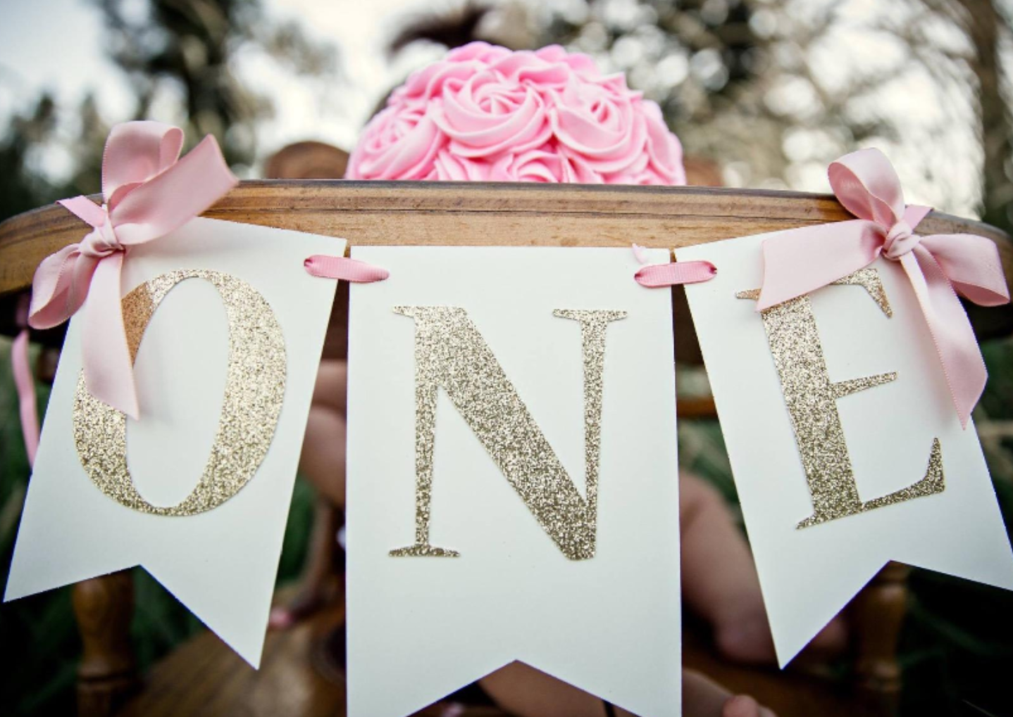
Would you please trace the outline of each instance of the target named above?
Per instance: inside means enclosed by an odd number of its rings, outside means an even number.
[[[894,715],[901,697],[897,646],[908,603],[911,568],[887,563],[851,606],[854,631],[855,687],[866,714]]]

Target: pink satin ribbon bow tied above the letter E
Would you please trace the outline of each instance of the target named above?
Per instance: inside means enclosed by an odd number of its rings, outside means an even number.
[[[793,230],[764,242],[757,310],[826,286],[879,256],[900,262],[925,315],[960,425],[966,428],[988,373],[957,293],[983,306],[1010,300],[998,248],[971,234],[914,234],[931,209],[905,205],[901,180],[878,150],[860,150],[834,162],[830,183],[844,207],[859,218]]]

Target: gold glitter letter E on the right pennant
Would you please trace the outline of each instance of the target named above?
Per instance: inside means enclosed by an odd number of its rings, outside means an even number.
[[[861,269],[834,283],[862,286],[883,313],[893,316],[875,269]],[[735,296],[756,298],[759,294],[759,289],[754,289],[741,291]],[[832,382],[820,344],[812,304],[807,296],[771,306],[761,311],[760,316],[781,379],[781,389],[812,497],[812,515],[801,521],[797,528],[943,491],[942,452],[936,438],[932,441],[925,477],[887,496],[862,501],[858,496],[836,401],[851,393],[892,381],[897,373]]]

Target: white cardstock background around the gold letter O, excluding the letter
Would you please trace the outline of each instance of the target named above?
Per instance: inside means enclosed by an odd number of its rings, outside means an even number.
[[[249,482],[204,513],[151,515],[106,497],[81,467],[73,437],[81,372],[78,312],[46,412],[4,600],[142,565],[258,665],[337,284],[307,274],[303,261],[312,254],[341,256],[344,246],[331,237],[196,218],[130,250],[124,294],[164,272],[208,269],[247,282],[270,305],[287,356],[274,440]],[[222,298],[201,279],[173,287],[144,334],[135,363],[141,420],[128,419],[127,444],[137,489],[155,506],[179,503],[201,477],[218,426],[228,349]]]

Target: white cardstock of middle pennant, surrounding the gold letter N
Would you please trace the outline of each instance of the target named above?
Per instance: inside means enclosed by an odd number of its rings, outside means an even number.
[[[357,247],[353,256],[390,278],[352,288],[348,714],[401,717],[520,660],[635,714],[678,715],[670,292],[637,285],[626,249]],[[412,545],[416,515],[416,320],[395,306],[467,311],[581,497],[581,331],[553,311],[628,313],[606,332],[594,557],[563,554],[444,388],[430,542],[460,555],[389,554]]]

